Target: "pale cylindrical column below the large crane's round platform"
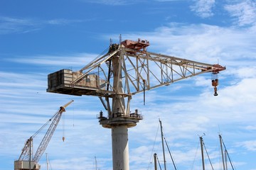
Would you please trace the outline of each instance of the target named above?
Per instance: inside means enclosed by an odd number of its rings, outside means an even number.
[[[113,170],[129,170],[127,125],[112,127]]]

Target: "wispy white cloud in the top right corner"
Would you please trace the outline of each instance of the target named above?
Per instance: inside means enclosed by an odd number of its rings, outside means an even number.
[[[252,0],[240,1],[225,6],[230,16],[235,18],[238,26],[248,26],[256,23],[256,2]]]

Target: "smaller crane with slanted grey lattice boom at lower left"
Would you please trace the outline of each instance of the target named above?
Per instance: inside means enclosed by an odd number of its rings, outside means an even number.
[[[29,137],[28,140],[26,140],[25,146],[22,149],[21,155],[18,158],[17,161],[14,162],[14,170],[39,170],[41,166],[38,164],[39,159],[42,157],[43,152],[45,152],[46,147],[48,146],[48,143],[50,142],[50,138],[53,136],[53,132],[57,128],[57,125],[60,121],[61,115],[63,112],[65,112],[65,108],[72,103],[72,101],[66,103],[64,106],[60,106],[60,110],[53,115],[52,118],[48,120],[46,124],[44,124],[34,135]],[[50,123],[50,121],[52,121]],[[36,154],[33,155],[33,138],[38,135],[43,128],[46,127],[50,123],[50,126],[46,132],[46,135],[44,135],[43,140],[41,141],[40,145],[38,146],[38,149],[36,150]],[[65,140],[65,137],[63,137],[63,141]]]

